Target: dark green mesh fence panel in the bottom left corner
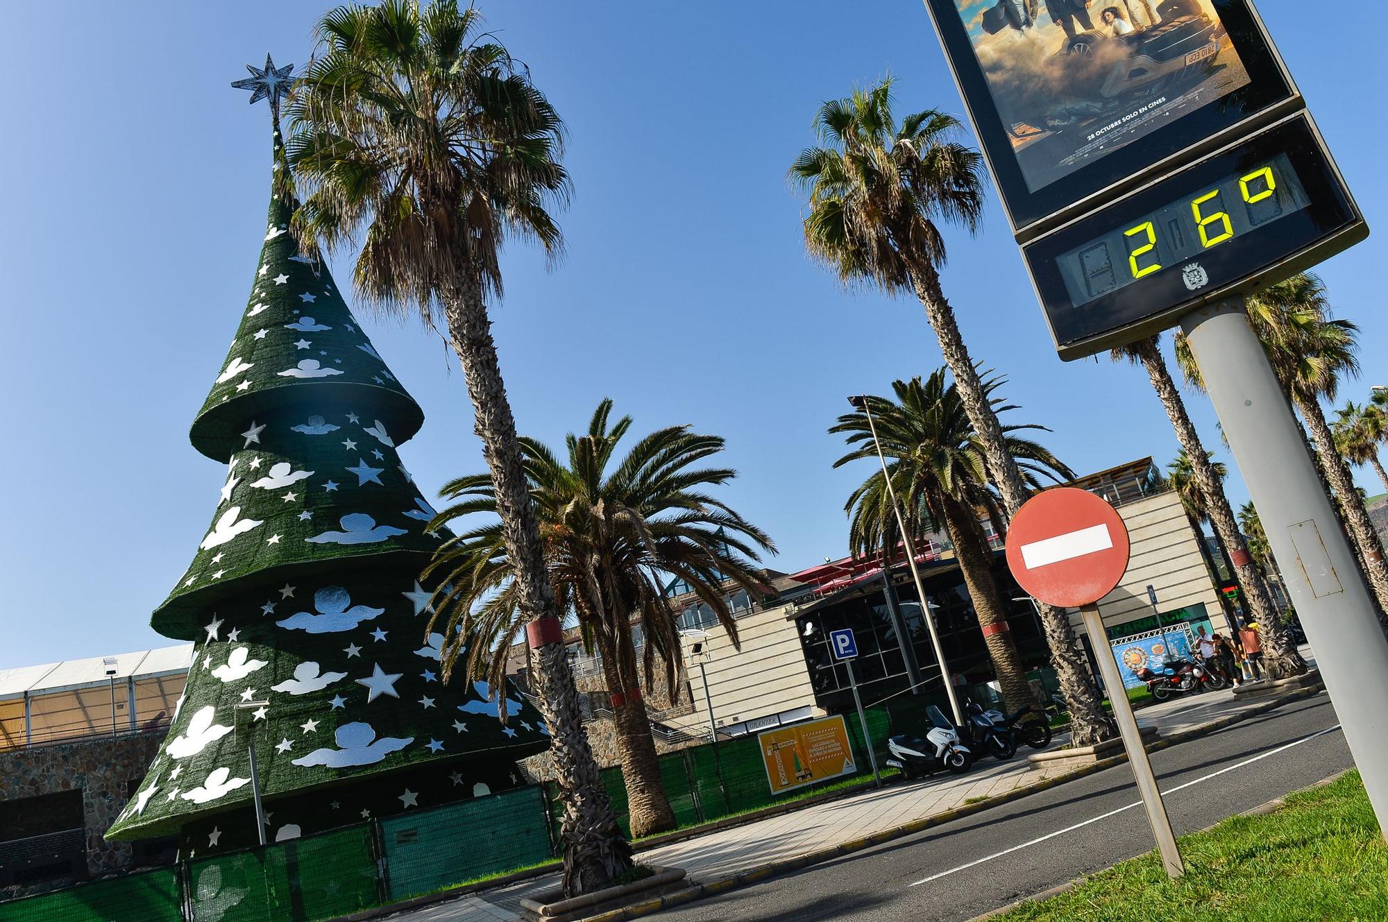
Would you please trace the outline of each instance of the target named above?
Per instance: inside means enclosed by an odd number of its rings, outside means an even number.
[[[174,868],[0,903],[0,922],[180,922]]]

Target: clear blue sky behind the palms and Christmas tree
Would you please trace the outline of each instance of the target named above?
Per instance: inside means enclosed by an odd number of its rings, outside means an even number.
[[[1382,4],[1262,11],[1371,225],[1382,179]],[[268,114],[229,82],[265,51],[301,64],[310,3],[46,4],[7,14],[0,101],[0,668],[169,643],[149,628],[205,533],[225,479],[187,426],[250,290],[269,178]],[[690,424],[729,442],[723,497],[795,571],[845,550],[826,428],[849,393],[941,364],[920,305],[844,293],[804,253],[786,168],[820,100],[897,75],[898,108],[962,112],[919,0],[561,4],[493,0],[490,26],[570,131],[568,257],[505,255],[494,311],[523,432],[558,442],[604,396],[644,432]],[[1351,14],[1352,11],[1352,14]],[[1345,15],[1349,14],[1349,15]],[[991,194],[991,193],[990,193]],[[1381,228],[1380,228],[1381,229]],[[1176,442],[1145,375],[1062,364],[1006,221],[949,235],[945,289],[974,355],[1005,372],[1016,419],[1078,471]],[[1380,239],[1321,267],[1388,383]],[[346,264],[335,267],[348,282]],[[482,469],[461,374],[412,324],[362,315],[426,414],[403,454],[432,496]],[[1191,408],[1223,453],[1209,404]],[[1371,475],[1360,483],[1377,493]],[[1237,472],[1235,504],[1246,498]]]

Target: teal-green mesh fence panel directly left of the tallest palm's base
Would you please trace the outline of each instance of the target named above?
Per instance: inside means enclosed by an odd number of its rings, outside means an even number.
[[[520,787],[383,819],[391,901],[552,857],[544,789]]]

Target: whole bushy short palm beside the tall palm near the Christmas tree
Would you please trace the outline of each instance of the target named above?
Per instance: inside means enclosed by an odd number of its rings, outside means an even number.
[[[672,700],[683,671],[675,612],[657,578],[677,576],[718,617],[733,646],[737,622],[727,605],[730,586],[766,592],[754,568],[770,539],[713,498],[708,487],[736,476],[730,468],[698,467],[723,450],[723,439],[688,426],[658,429],[640,439],[623,458],[616,449],[632,418],[609,422],[612,401],[598,404],[589,430],[565,440],[561,460],[534,439],[520,439],[530,496],[540,515],[550,582],[584,639],[602,660],[618,753],[626,782],[632,835],[675,828],[651,722],[641,696],[659,671]],[[497,492],[486,473],[444,485],[452,505],[430,528],[497,512]],[[472,675],[500,680],[507,651],[525,626],[516,567],[500,523],[471,525],[448,540],[426,573],[451,585],[430,622],[446,622],[444,651],[466,658]],[[645,639],[638,657],[633,625]],[[640,665],[638,665],[640,664]]]

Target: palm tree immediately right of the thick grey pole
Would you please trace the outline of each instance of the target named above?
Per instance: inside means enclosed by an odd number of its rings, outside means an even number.
[[[1310,430],[1316,455],[1334,490],[1349,537],[1357,547],[1369,586],[1380,611],[1388,612],[1388,560],[1384,558],[1378,532],[1359,500],[1349,464],[1335,449],[1335,436],[1320,404],[1323,397],[1335,400],[1342,378],[1359,374],[1355,357],[1359,328],[1331,318],[1326,285],[1309,272],[1248,299],[1248,315],[1283,389]]]

